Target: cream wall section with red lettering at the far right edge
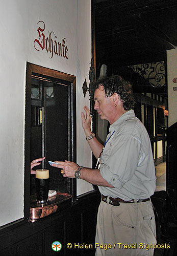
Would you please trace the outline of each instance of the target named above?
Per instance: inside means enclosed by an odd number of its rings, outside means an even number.
[[[167,79],[168,79],[168,127],[177,121],[177,48],[167,51]]]

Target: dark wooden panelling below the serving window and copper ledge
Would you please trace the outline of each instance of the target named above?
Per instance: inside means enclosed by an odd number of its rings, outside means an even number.
[[[34,223],[19,220],[0,228],[0,255],[56,255],[52,243],[62,244],[60,255],[94,255],[94,239],[100,194],[90,191],[79,196],[69,207]],[[72,244],[67,249],[67,243]],[[74,248],[92,244],[92,249]]]

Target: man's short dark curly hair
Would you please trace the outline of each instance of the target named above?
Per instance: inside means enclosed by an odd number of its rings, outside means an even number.
[[[119,95],[124,110],[134,109],[135,99],[133,97],[132,86],[121,76],[113,75],[98,79],[95,82],[95,90],[98,89],[100,85],[104,87],[106,97],[111,97],[114,93]]]

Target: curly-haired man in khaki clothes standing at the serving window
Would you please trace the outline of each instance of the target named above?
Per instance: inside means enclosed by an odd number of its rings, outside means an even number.
[[[111,249],[97,247],[96,255],[153,255],[156,227],[150,196],[156,176],[149,136],[135,116],[131,86],[119,76],[96,83],[94,109],[110,122],[104,150],[90,130],[90,112],[85,106],[82,125],[100,168],[80,167],[73,162],[59,162],[63,177],[80,178],[98,185],[102,194],[97,216],[95,242],[111,244]],[[58,167],[58,165],[53,164]]]

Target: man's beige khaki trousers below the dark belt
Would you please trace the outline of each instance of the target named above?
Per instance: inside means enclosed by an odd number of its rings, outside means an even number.
[[[100,202],[95,255],[152,256],[156,242],[155,216],[150,201],[120,203],[119,206]]]

